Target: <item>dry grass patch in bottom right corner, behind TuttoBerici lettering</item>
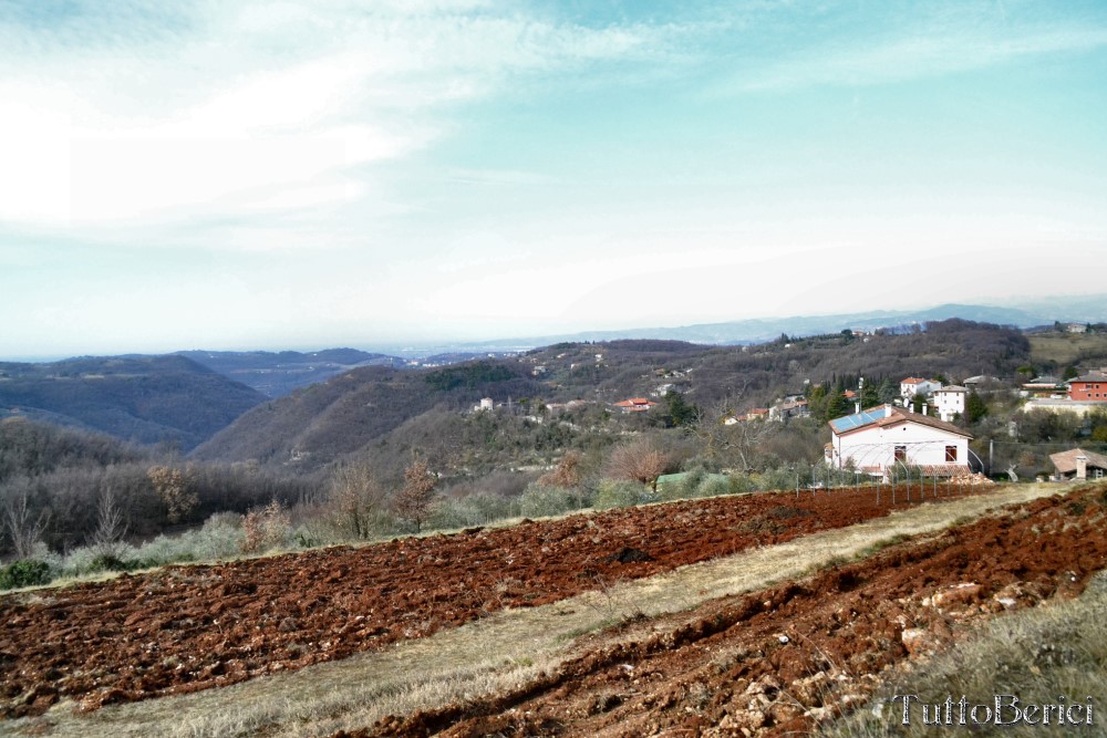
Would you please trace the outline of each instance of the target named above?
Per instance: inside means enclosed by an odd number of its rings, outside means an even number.
[[[1103,736],[1107,724],[1107,575],[1099,574],[1084,595],[1069,602],[1047,602],[1033,610],[990,621],[968,641],[935,657],[888,677],[869,704],[848,718],[824,728],[826,738],[870,736],[924,736],[937,731],[965,732],[960,726],[927,727],[915,704],[911,725],[903,726],[902,700],[896,695],[918,695],[933,705],[962,696],[970,705],[994,704],[995,695],[1014,695],[1020,706],[1057,704],[1065,696],[1068,705],[1094,703],[1093,726],[973,726],[973,735],[1013,736],[1043,734]],[[980,715],[983,715],[981,710]],[[944,716],[943,716],[944,717]],[[1013,713],[1005,708],[1004,720]],[[958,708],[953,710],[958,723]],[[968,721],[971,721],[969,717]]]

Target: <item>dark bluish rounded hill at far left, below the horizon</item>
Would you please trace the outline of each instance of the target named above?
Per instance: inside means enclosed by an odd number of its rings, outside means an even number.
[[[265,396],[184,356],[0,363],[0,416],[188,450]]]

